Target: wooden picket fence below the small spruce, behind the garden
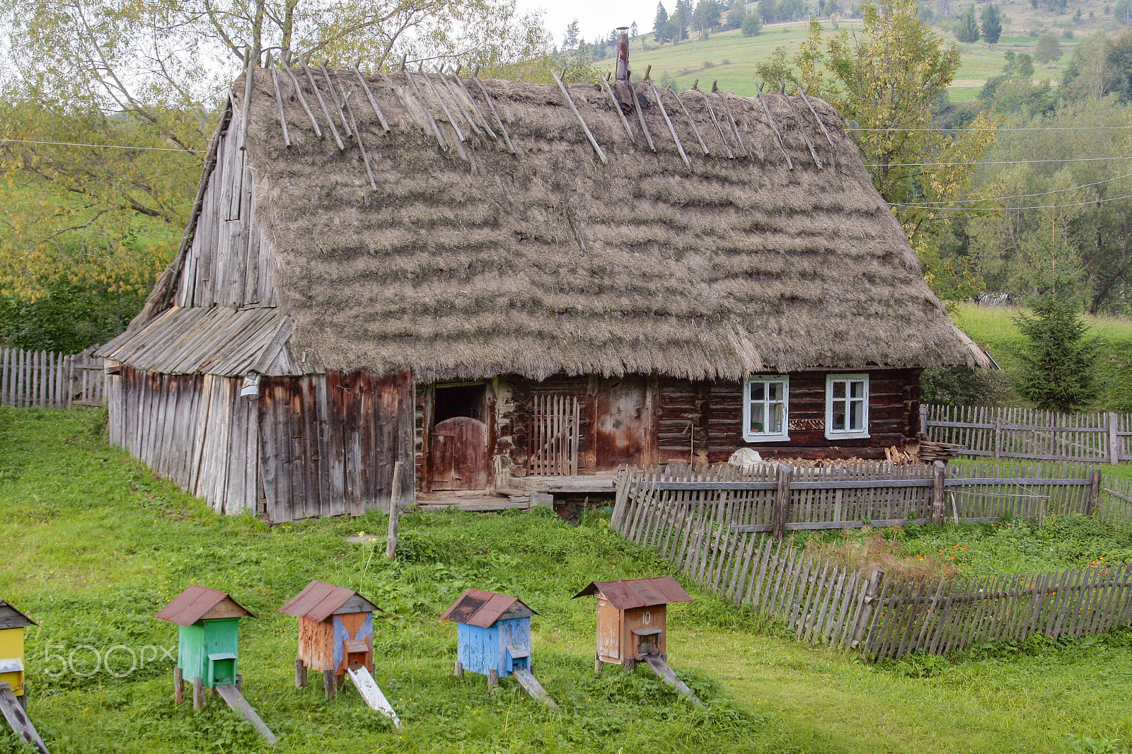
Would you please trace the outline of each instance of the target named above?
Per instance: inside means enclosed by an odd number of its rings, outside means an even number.
[[[920,415],[928,439],[959,445],[964,455],[1083,463],[1132,461],[1130,413],[924,404]]]

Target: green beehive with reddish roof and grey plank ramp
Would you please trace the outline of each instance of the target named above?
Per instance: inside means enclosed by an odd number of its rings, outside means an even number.
[[[241,693],[243,678],[237,666],[240,618],[255,618],[251,610],[222,591],[191,584],[154,617],[180,626],[173,701],[180,704],[185,700],[185,682],[191,678],[194,710],[204,708],[206,688],[215,691],[233,712],[247,718],[267,743],[275,744],[275,735]]]

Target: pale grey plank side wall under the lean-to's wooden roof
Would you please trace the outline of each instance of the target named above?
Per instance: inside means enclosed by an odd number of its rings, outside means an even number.
[[[217,513],[256,511],[256,400],[240,396],[240,380],[128,366],[118,372],[106,380],[110,442]]]

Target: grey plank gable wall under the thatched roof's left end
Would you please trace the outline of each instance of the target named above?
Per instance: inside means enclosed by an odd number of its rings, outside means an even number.
[[[185,257],[174,302],[182,307],[273,307],[274,257],[252,222],[256,182],[240,149],[237,113],[220,136],[192,246]]]

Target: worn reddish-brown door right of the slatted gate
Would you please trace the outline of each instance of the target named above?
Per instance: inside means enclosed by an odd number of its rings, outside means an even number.
[[[598,384],[592,423],[595,471],[644,463],[650,431],[648,394],[645,378],[637,375]]]

